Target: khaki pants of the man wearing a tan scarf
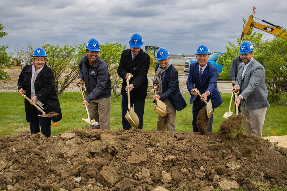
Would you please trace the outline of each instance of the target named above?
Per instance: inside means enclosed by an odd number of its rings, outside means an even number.
[[[168,123],[165,126],[163,126],[160,120],[162,117],[158,116],[158,122],[156,123],[156,130],[165,131],[166,129],[167,131],[175,131],[174,121],[175,121],[176,109],[171,105],[168,99],[165,99],[163,102],[167,105],[168,110],[170,112],[169,120]]]

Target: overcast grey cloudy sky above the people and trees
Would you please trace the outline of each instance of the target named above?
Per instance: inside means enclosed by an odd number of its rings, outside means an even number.
[[[283,0],[0,0],[0,23],[8,32],[0,45],[9,45],[9,52],[17,44],[63,46],[90,38],[125,45],[139,33],[144,46],[163,46],[170,54],[195,54],[200,44],[210,52],[225,51],[228,41],[234,44],[241,36],[242,17],[248,19],[253,5],[255,16],[287,27]]]

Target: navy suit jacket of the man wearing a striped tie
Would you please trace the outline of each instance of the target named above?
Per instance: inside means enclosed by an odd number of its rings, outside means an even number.
[[[186,81],[187,90],[191,94],[191,90],[197,88],[201,94],[206,91],[210,92],[210,95],[207,97],[207,101],[211,99],[212,108],[217,108],[222,104],[222,98],[220,92],[217,89],[217,69],[212,66],[210,62],[207,63],[206,68],[204,69],[201,76],[201,83],[199,82],[199,67],[198,62],[191,63],[189,66],[188,77]],[[189,103],[193,101],[198,96],[193,96],[191,94]],[[198,97],[199,98],[199,97]]]

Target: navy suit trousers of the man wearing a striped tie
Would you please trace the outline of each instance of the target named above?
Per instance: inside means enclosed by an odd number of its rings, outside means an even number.
[[[198,132],[199,130],[197,129],[197,125],[196,125],[196,118],[198,115],[199,110],[201,110],[204,106],[206,106],[206,104],[200,100],[199,97],[195,98],[195,100],[193,101],[192,104],[192,131],[193,132]],[[213,109],[214,111],[214,109]],[[212,121],[213,121],[213,114],[210,117],[210,122],[209,122],[209,126],[207,129],[207,132],[211,132],[212,131]]]

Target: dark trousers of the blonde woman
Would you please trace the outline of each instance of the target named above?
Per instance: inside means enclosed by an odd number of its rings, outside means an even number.
[[[36,134],[40,132],[41,126],[41,132],[45,137],[51,137],[51,118],[50,117],[40,117],[38,115],[42,115],[42,113],[33,107],[33,113],[35,117],[35,123],[30,123],[30,131],[31,134]]]

